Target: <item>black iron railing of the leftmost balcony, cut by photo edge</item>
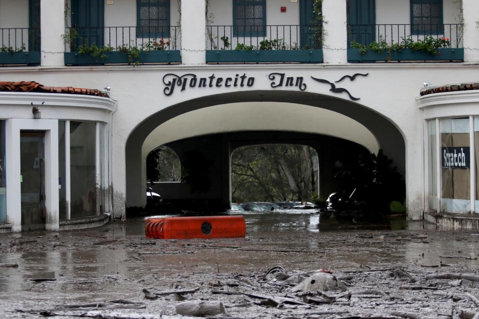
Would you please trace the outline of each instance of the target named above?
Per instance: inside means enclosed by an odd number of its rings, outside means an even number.
[[[40,51],[39,28],[0,28],[0,52]]]

